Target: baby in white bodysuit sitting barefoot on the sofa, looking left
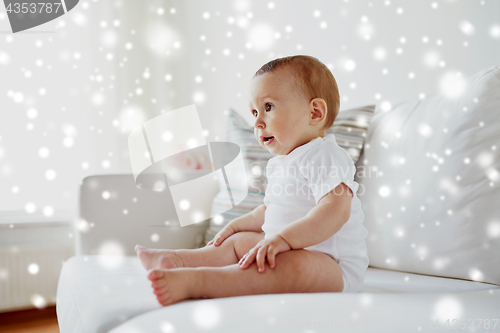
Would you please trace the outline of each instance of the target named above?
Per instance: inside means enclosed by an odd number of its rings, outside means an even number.
[[[254,133],[273,156],[264,204],[201,249],[135,250],[162,305],[189,298],[357,292],[368,256],[355,166],[326,135],[337,83],[310,56],[279,58],[250,83]],[[174,269],[175,268],[175,269]]]

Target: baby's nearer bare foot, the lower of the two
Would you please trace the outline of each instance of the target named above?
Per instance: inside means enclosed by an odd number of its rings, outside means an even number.
[[[192,275],[183,270],[155,269],[148,273],[156,299],[161,305],[171,305],[192,297],[190,294],[192,280],[189,277]]]

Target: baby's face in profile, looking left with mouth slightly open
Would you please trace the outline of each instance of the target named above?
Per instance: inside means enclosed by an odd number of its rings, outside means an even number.
[[[275,155],[288,155],[317,137],[309,126],[309,101],[297,91],[293,80],[286,69],[280,69],[259,75],[250,83],[255,137]]]

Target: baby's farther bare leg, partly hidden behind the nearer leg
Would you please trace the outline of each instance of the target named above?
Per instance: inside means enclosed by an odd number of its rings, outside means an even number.
[[[192,250],[155,250],[137,245],[135,251],[145,269],[179,267],[220,267],[236,264],[241,257],[264,239],[263,234],[252,231],[237,232],[219,246],[206,246]]]

